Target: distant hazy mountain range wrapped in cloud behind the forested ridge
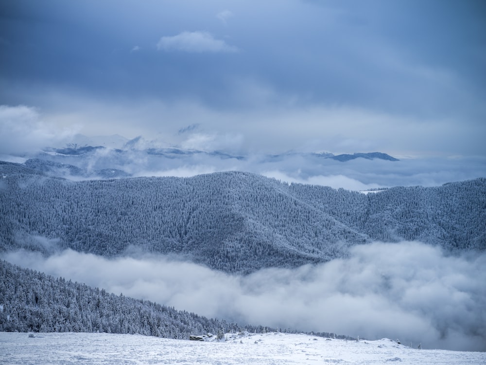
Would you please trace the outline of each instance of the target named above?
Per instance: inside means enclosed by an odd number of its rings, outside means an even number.
[[[25,162],[29,167],[47,175],[72,180],[129,176],[184,177],[228,170],[279,177],[287,182],[317,181],[331,184],[333,187],[357,190],[397,184],[416,185],[423,184],[424,181],[430,183],[437,180],[434,170],[427,170],[427,174],[434,176],[431,180],[426,179],[422,174],[421,165],[418,166],[416,176],[410,175],[408,161],[399,163],[394,157],[381,152],[350,155],[334,155],[323,151],[242,153],[232,151],[231,148],[208,150],[181,148],[160,139],[146,140],[143,137],[136,137],[128,140],[118,135],[86,137],[78,134],[64,142],[66,142],[64,145],[45,147],[43,150],[21,156],[5,155],[2,159]],[[397,163],[388,164],[391,161]],[[438,164],[434,163],[434,166],[439,169]],[[458,168],[464,170],[463,165]],[[377,173],[370,174],[370,171]],[[472,175],[460,176],[463,179],[482,176],[477,169],[474,171]],[[343,182],[341,176],[349,179]],[[324,180],[331,182],[324,183]],[[450,181],[449,179],[438,180],[437,184]]]

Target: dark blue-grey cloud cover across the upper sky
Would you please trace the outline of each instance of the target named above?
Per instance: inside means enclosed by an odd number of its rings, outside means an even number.
[[[234,83],[251,78],[304,106],[482,123],[486,26],[476,2],[315,4],[18,0],[2,9],[0,75],[26,90],[189,98],[215,109],[253,107]],[[238,17],[224,26],[230,14]],[[157,42],[199,52],[160,52]],[[26,103],[12,88],[1,96]]]

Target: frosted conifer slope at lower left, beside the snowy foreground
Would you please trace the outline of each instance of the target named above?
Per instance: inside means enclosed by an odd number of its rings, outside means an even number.
[[[189,339],[191,334],[230,330],[241,329],[0,261],[0,331],[99,331]]]

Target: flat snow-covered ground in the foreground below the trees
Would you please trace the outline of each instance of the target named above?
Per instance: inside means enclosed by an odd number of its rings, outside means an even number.
[[[484,352],[304,334],[226,334],[198,342],[107,333],[0,332],[0,364],[486,364]]]

